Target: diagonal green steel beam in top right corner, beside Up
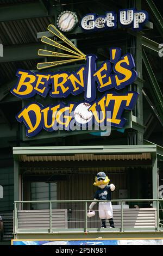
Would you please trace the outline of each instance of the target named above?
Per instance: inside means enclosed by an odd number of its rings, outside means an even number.
[[[155,25],[157,25],[158,31],[160,32],[161,36],[163,36],[163,19],[162,19],[162,15],[160,14],[158,8],[156,8],[154,2],[152,0],[146,0],[149,9],[154,17],[153,22],[155,23]],[[160,1],[161,3],[161,1]],[[161,8],[161,5],[160,5]]]

